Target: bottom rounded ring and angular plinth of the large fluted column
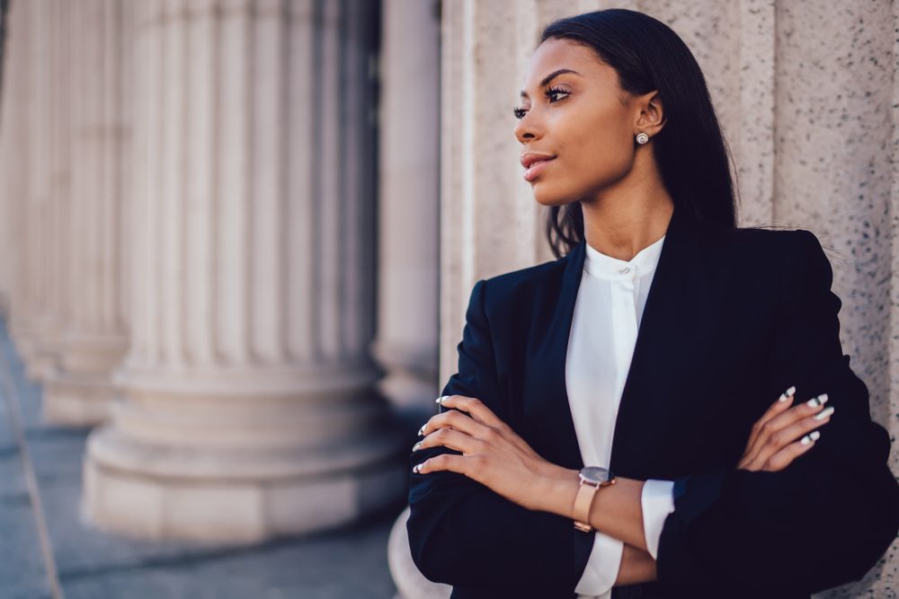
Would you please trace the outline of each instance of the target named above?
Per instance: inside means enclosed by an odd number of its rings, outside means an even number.
[[[397,437],[314,452],[178,448],[104,425],[88,437],[82,509],[102,530],[157,540],[255,543],[334,528],[405,496],[410,450]]]

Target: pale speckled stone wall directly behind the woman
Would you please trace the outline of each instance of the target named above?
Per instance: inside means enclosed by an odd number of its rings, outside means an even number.
[[[510,107],[539,31],[625,7],[668,23],[702,67],[734,157],[741,225],[808,229],[843,301],[841,339],[872,418],[899,432],[899,119],[893,2],[454,0],[443,3],[441,380],[475,281],[551,260]],[[895,279],[899,280],[899,279]],[[891,454],[899,471],[899,451]],[[896,597],[899,547],[820,597]]]

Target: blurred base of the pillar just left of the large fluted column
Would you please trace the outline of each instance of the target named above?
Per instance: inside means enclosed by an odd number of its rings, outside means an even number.
[[[109,376],[54,370],[44,379],[43,418],[64,427],[93,427],[109,418],[115,389]]]

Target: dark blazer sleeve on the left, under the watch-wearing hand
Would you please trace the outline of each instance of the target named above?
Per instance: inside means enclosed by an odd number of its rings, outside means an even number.
[[[458,373],[441,394],[476,397],[505,419],[485,293],[486,282],[478,281],[458,344]],[[460,454],[429,447],[412,454],[409,462],[406,530],[423,575],[433,582],[492,590],[496,596],[574,595],[581,573],[575,577],[571,520],[521,507],[457,472],[411,471],[414,464],[442,453]]]

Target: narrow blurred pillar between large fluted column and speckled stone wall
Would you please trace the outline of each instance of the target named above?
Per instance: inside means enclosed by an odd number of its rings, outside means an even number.
[[[387,0],[381,39],[373,353],[387,373],[379,382],[381,392],[397,408],[433,411],[440,269],[439,4]]]

